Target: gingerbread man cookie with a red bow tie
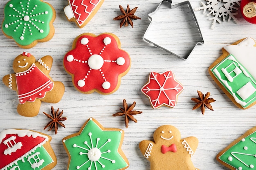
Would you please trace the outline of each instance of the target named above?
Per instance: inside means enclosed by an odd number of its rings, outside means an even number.
[[[177,128],[163,125],[155,130],[153,138],[139,143],[141,153],[150,161],[150,170],[199,170],[191,161],[198,147],[196,137],[181,139]]]

